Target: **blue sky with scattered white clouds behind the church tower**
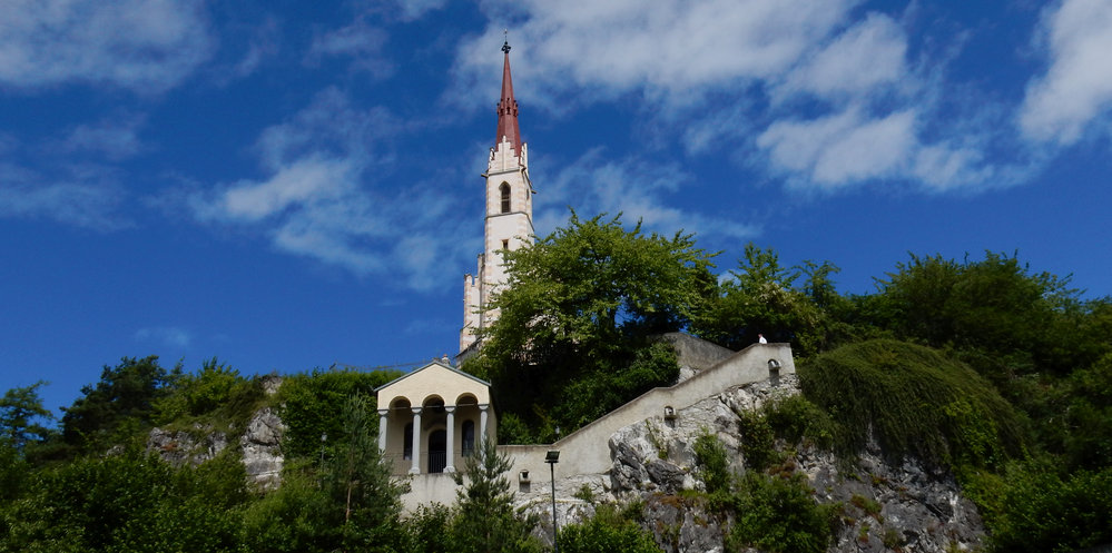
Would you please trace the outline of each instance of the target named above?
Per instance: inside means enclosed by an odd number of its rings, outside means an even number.
[[[651,7],[651,8],[649,8]],[[0,0],[0,389],[454,354],[503,29],[544,235],[1112,294],[1112,3]]]

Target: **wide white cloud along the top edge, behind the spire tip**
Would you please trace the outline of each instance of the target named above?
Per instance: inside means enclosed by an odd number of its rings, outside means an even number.
[[[848,17],[857,0],[532,0],[492,2],[486,31],[464,42],[457,93],[485,99],[508,12],[515,75],[533,101],[557,107],[646,90],[672,105],[697,102],[715,88],[781,75]],[[520,69],[519,69],[520,68]],[[585,90],[584,90],[585,89]],[[496,97],[496,92],[493,95]]]

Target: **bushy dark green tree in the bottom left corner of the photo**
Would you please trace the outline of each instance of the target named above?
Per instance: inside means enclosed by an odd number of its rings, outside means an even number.
[[[210,463],[224,467],[175,470],[131,447],[36,473],[4,513],[0,551],[237,551],[245,473],[238,458]],[[238,477],[207,472],[224,470]]]

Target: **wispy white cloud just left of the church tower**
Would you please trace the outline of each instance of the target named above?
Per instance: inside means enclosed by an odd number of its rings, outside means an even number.
[[[325,90],[260,134],[263,178],[195,191],[186,204],[198,221],[257,231],[279,251],[413,289],[442,287],[456,280],[442,266],[463,263],[454,257],[462,223],[444,217],[460,198],[429,184],[443,179],[435,168],[406,174],[411,181],[382,176],[393,167],[386,139],[401,128],[384,110]]]

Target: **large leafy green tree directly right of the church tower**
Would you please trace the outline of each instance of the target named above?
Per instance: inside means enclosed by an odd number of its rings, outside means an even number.
[[[618,404],[603,398],[609,409],[671,384],[678,367],[646,354],[637,364],[638,353],[650,336],[685,328],[714,283],[712,256],[690,235],[646,235],[640,224],[626,230],[620,217],[583,220],[572,213],[565,228],[502,255],[509,283],[490,305],[500,315],[468,369],[491,381],[502,413],[541,438],[557,424],[573,429],[594,416],[560,406],[569,385],[604,394],[614,384],[609,377],[618,378],[627,387]]]

